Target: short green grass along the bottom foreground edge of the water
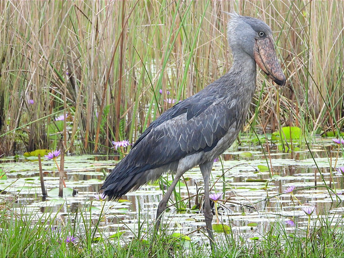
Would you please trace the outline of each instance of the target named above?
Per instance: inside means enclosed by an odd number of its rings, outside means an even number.
[[[215,252],[211,254],[207,239],[180,241],[173,237],[176,228],[164,225],[159,237],[151,245],[152,226],[147,218],[139,215],[139,228],[126,238],[106,237],[100,233],[95,238],[97,225],[103,223],[90,219],[83,211],[68,212],[69,219],[62,223],[58,215],[46,214],[42,218],[35,211],[25,208],[13,212],[18,205],[1,204],[0,255],[2,257],[343,257],[343,217],[326,215],[321,211],[314,215],[307,237],[306,223],[287,228],[284,219],[271,221],[266,233],[260,237],[230,233],[217,234]],[[81,214],[81,215],[80,215]],[[66,243],[67,237],[76,240]],[[197,238],[197,237],[196,237]],[[203,241],[205,241],[203,243]],[[187,243],[186,243],[187,242]]]

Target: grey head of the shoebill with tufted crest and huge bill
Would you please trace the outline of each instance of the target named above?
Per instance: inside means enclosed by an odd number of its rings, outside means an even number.
[[[276,84],[286,84],[286,77],[276,56],[270,27],[252,17],[228,14],[232,19],[227,24],[227,39],[232,51],[248,54]]]

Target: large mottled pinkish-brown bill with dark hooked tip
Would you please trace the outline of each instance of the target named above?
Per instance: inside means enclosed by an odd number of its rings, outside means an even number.
[[[279,86],[286,84],[286,76],[278,63],[272,36],[256,40],[254,58],[259,67]]]

